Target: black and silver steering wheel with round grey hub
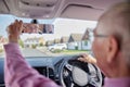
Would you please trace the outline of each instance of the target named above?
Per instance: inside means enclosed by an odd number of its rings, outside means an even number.
[[[98,66],[77,60],[79,55],[65,59],[60,66],[63,87],[101,87],[102,74]]]

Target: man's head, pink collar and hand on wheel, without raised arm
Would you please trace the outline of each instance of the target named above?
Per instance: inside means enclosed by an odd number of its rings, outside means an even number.
[[[104,87],[130,87],[130,3],[118,3],[105,12],[93,32],[90,57],[81,61],[98,64],[106,76]]]

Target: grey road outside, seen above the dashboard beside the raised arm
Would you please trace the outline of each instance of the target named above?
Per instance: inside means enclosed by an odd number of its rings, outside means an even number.
[[[43,51],[31,49],[31,48],[22,49],[22,53],[24,57],[48,57],[49,55]],[[4,55],[5,55],[4,52],[0,53],[0,58],[4,58]]]

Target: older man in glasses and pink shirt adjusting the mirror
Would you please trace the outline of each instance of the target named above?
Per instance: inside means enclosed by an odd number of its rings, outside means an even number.
[[[9,26],[5,86],[57,87],[25,62],[17,45],[22,24],[15,21]],[[130,3],[116,4],[100,17],[92,49],[106,76],[104,87],[130,87]]]

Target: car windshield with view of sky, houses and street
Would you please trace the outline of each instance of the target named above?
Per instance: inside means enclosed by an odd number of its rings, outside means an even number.
[[[3,45],[8,42],[6,27],[15,20],[30,23],[31,18],[0,15],[0,58],[4,58]],[[95,21],[72,18],[38,20],[40,24],[53,24],[53,34],[22,34],[20,48],[25,57],[55,57],[91,52],[89,29]]]

